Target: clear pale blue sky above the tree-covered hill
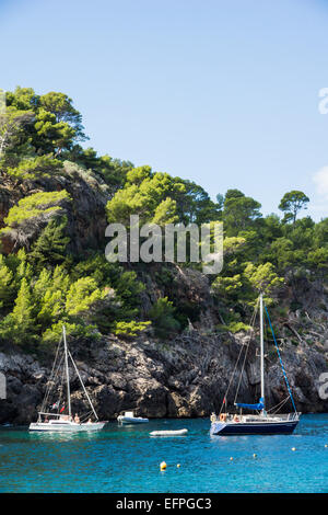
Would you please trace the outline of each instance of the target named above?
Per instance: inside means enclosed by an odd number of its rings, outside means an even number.
[[[327,26],[325,0],[0,0],[0,87],[68,93],[99,153],[265,214],[302,190],[319,220]]]

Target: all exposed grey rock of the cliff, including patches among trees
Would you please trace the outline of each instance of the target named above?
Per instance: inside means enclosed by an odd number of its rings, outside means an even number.
[[[20,198],[35,192],[66,190],[72,203],[61,206],[68,218],[70,251],[83,255],[87,249],[104,249],[105,206],[110,188],[95,174],[73,163],[65,163],[65,173],[54,178],[23,181],[2,178],[0,184],[0,226],[9,209]],[[26,226],[26,245],[35,241],[43,227]],[[30,231],[30,232],[28,232]],[[15,249],[15,232],[2,238],[2,251]],[[232,334],[218,329],[223,323],[215,307],[208,277],[192,268],[173,265],[163,276],[160,265],[141,266],[138,278],[145,285],[141,294],[141,319],[163,296],[183,307],[189,328],[162,340],[152,331],[138,339],[102,335],[96,342],[72,339],[69,344],[83,380],[102,419],[113,419],[126,409],[149,417],[207,416],[220,409],[227,385],[230,404],[239,382],[243,346],[249,344],[246,367],[242,374],[238,400],[253,402],[259,396],[259,358],[256,341],[245,332]],[[284,287],[279,304],[284,314],[277,324],[281,355],[302,412],[328,411],[325,376],[328,358],[327,290],[315,283],[298,282],[298,291]],[[300,309],[290,310],[292,296]],[[222,325],[223,327],[223,325]],[[24,354],[19,346],[3,346],[0,373],[7,378],[7,399],[0,400],[0,423],[26,424],[35,420],[51,368],[51,355]],[[232,377],[233,376],[233,377]],[[73,410],[83,411],[83,396],[74,370],[72,377]],[[286,396],[278,357],[270,342],[266,355],[268,404],[274,405]],[[290,409],[290,403],[288,404]]]

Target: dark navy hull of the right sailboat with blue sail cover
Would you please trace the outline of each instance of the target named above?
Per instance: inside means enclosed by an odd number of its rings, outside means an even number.
[[[212,422],[211,435],[234,436],[234,435],[291,435],[298,421],[282,422]]]

